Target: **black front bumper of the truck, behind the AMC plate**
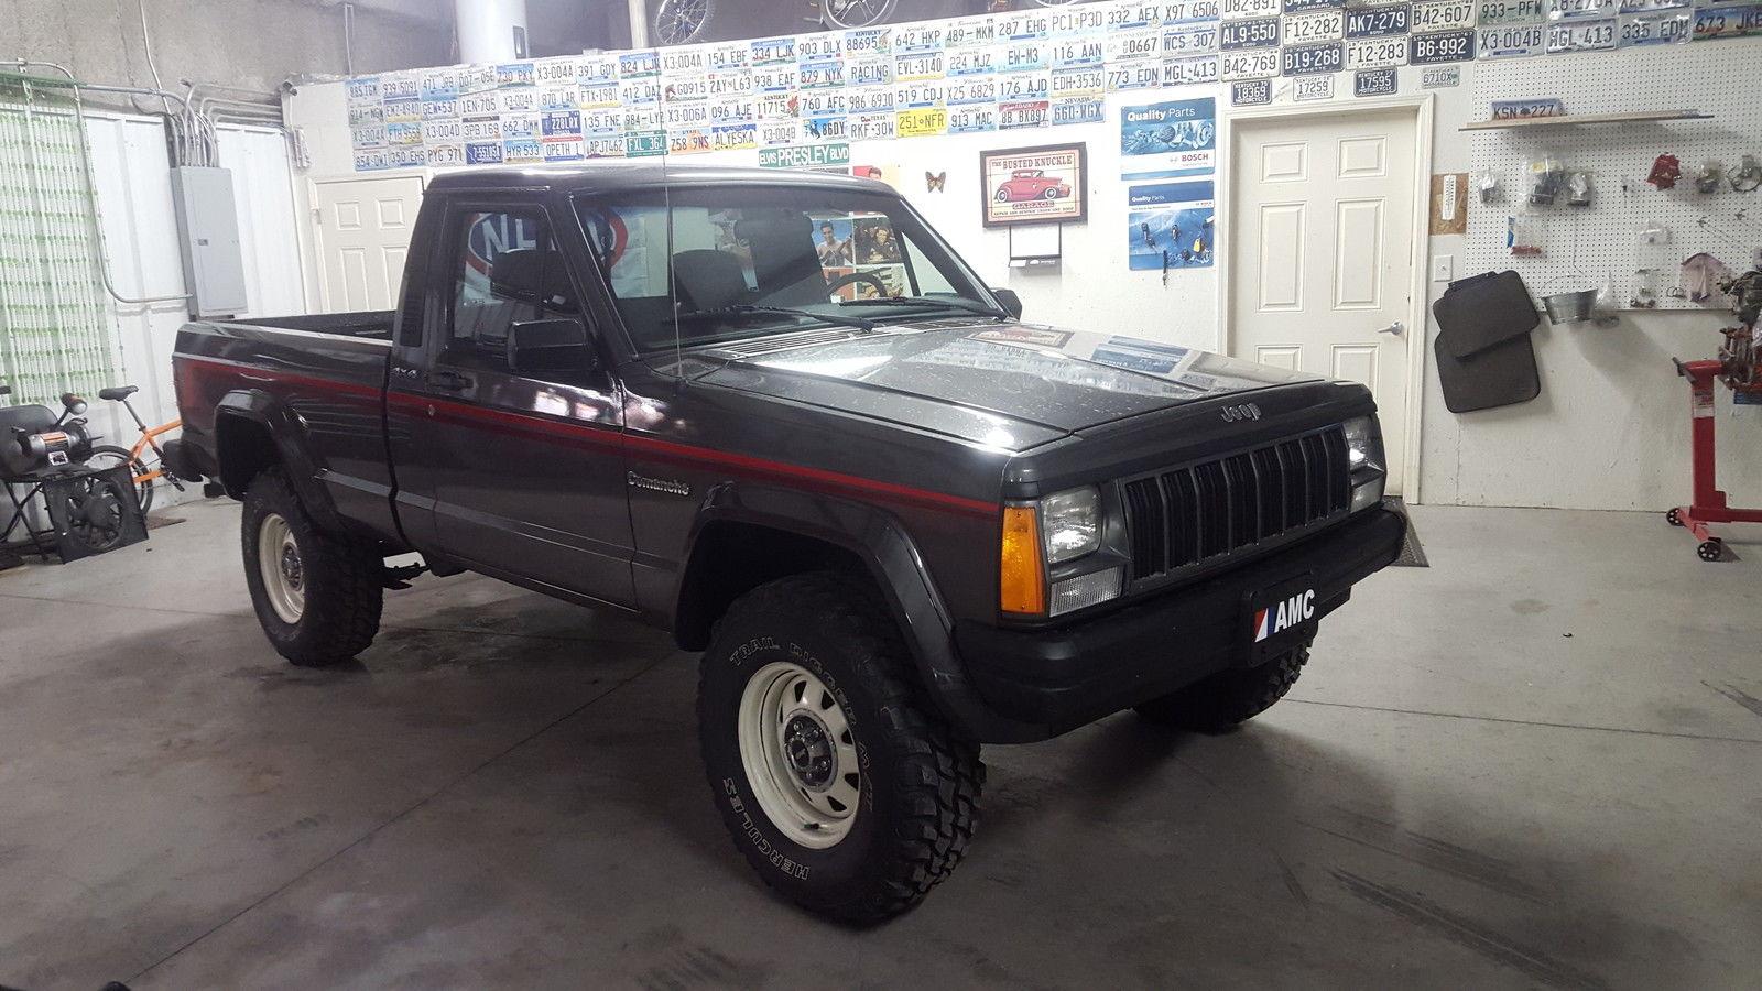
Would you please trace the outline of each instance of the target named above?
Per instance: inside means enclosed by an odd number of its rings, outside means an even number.
[[[1010,741],[1047,739],[1249,663],[1247,596],[1293,578],[1316,619],[1353,582],[1401,554],[1406,518],[1376,508],[1251,564],[1052,630],[957,624],[955,647],[980,700],[1013,723]],[[987,741],[990,742],[990,741]]]

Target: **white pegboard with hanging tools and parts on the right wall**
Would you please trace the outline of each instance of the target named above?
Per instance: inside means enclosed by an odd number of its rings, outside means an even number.
[[[1758,60],[1762,44],[1714,41],[1478,62],[1477,118],[1489,116],[1492,101],[1540,97],[1559,97],[1568,115],[1699,109],[1714,116],[1468,132],[1473,175],[1494,171],[1501,185],[1492,203],[1480,203],[1478,190],[1470,190],[1470,272],[1512,268],[1535,296],[1605,289],[1602,307],[1628,309],[1635,272],[1655,265],[1662,268],[1656,309],[1709,309],[1669,293],[1684,257],[1707,252],[1743,272],[1762,247],[1762,192],[1732,192],[1721,180],[1720,192],[1699,194],[1693,183],[1706,159],[1727,169],[1736,169],[1744,153],[1762,159],[1762,101],[1753,83]],[[1665,152],[1681,159],[1683,178],[1662,192],[1646,183],[1646,175]],[[1526,208],[1526,162],[1544,153],[1568,169],[1591,171],[1591,206],[1568,206],[1561,194],[1554,206]],[[1512,256],[1505,243],[1507,217],[1524,210],[1542,219],[1540,256]],[[1642,252],[1637,233],[1653,220],[1669,227],[1670,243]]]

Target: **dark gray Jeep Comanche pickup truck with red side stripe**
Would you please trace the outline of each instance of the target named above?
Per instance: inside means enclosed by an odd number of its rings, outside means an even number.
[[[671,630],[735,845],[846,920],[955,868],[981,742],[1247,719],[1403,538],[1362,386],[1020,323],[842,176],[446,175],[398,310],[192,323],[174,374],[282,656],[419,570]]]

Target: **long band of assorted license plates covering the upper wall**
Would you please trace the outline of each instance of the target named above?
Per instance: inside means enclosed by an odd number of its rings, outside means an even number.
[[[1404,65],[1455,85],[1462,62],[1744,35],[1758,0],[1101,2],[386,72],[347,81],[347,113],[356,171],[567,162],[1099,123],[1135,90],[1380,95]]]

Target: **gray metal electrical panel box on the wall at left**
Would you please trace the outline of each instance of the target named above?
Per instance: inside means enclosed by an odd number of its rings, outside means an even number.
[[[238,316],[250,309],[245,296],[245,256],[238,243],[233,173],[208,166],[171,169],[178,208],[178,242],[190,287],[190,316]]]

